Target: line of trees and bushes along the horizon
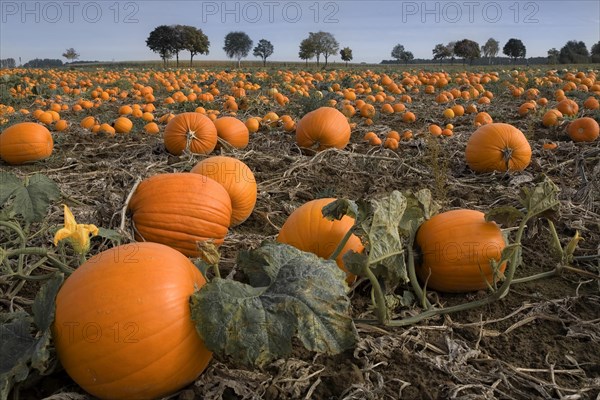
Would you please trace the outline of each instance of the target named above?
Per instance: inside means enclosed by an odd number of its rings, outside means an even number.
[[[262,60],[263,66],[267,59],[275,53],[273,44],[262,38],[252,48],[254,41],[245,32],[229,32],[224,38],[223,50],[230,59],[237,61],[238,67],[243,58],[250,51],[255,57]],[[160,25],[150,32],[146,39],[146,46],[158,53],[167,67],[169,60],[175,58],[176,66],[179,66],[179,55],[185,51],[189,54],[189,65],[193,65],[195,55],[208,55],[210,41],[201,29],[189,25]],[[591,51],[582,41],[570,40],[560,50],[552,48],[548,50],[547,57],[526,57],[525,44],[516,38],[509,39],[502,47],[502,53],[506,57],[498,56],[500,53],[500,42],[489,38],[485,44],[479,45],[470,39],[451,41],[447,44],[438,43],[432,49],[431,59],[415,59],[413,53],[402,44],[396,44],[391,50],[392,59],[383,59],[380,64],[469,64],[469,65],[542,65],[542,64],[586,64],[600,63],[600,41],[593,44]],[[346,65],[353,60],[352,49],[348,46],[340,49],[340,44],[330,32],[309,32],[307,38],[299,44],[298,58],[308,65],[309,60],[315,60],[316,65],[324,60],[327,66],[332,56],[340,55]],[[79,61],[79,53],[74,48],[67,49],[62,56],[68,62],[63,63],[60,59],[35,58],[20,67],[44,68],[61,67],[65,65],[100,63],[100,61]],[[292,62],[291,60],[289,62]],[[279,62],[281,63],[281,62]],[[366,63],[360,63],[366,64]],[[371,63],[369,63],[371,64]],[[16,61],[13,58],[0,60],[0,68],[15,68]]]

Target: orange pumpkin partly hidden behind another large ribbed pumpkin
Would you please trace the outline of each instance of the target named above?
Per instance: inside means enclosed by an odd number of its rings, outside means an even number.
[[[226,156],[209,157],[200,161],[191,172],[208,176],[219,182],[231,198],[231,226],[244,222],[256,204],[256,179],[246,164]]]

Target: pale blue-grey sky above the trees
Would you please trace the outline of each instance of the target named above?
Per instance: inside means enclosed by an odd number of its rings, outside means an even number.
[[[598,0],[457,0],[457,1],[167,1],[167,0],[0,0],[0,58],[23,63],[60,58],[73,47],[80,60],[159,59],[146,47],[158,25],[201,28],[211,46],[208,56],[224,60],[225,35],[246,32],[256,44],[273,43],[270,58],[299,61],[298,45],[308,32],[331,32],[341,47],[353,50],[354,62],[390,59],[400,43],[415,58],[431,58],[437,43],[471,39],[480,45],[493,37],[500,48],[518,38],[527,56],[546,56],[568,40],[588,50],[600,40]],[[502,50],[500,51],[500,55]],[[188,59],[182,52],[180,59]],[[250,59],[255,59],[251,54]],[[339,61],[339,55],[330,58]]]

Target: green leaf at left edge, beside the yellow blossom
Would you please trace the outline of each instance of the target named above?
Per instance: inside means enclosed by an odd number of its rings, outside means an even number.
[[[40,222],[50,203],[60,196],[56,183],[45,175],[34,174],[21,181],[14,174],[0,172],[0,205],[13,197],[12,209],[25,222]]]

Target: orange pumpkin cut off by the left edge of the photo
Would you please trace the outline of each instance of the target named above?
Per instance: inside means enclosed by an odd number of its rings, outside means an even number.
[[[9,164],[43,160],[53,149],[50,131],[35,122],[14,124],[0,134],[0,158]]]

